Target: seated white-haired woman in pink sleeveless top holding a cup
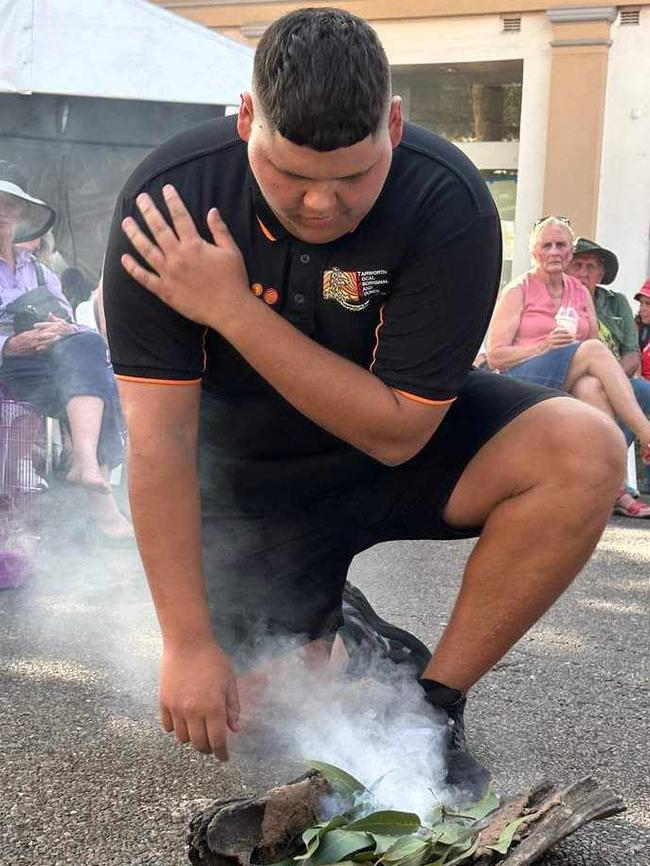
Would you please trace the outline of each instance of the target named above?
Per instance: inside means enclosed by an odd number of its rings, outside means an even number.
[[[639,438],[643,461],[650,462],[650,420],[618,361],[598,339],[591,295],[565,273],[573,244],[567,220],[546,217],[535,224],[530,238],[535,265],[499,299],[488,330],[488,363],[506,376],[568,391],[623,421]]]

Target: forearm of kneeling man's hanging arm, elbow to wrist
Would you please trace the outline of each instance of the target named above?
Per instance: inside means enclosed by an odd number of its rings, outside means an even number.
[[[128,470],[133,522],[163,641],[210,640],[194,449],[179,443],[175,451],[156,452],[131,444]]]

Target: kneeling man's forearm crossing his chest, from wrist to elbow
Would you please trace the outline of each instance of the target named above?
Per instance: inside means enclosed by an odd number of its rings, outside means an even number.
[[[239,315],[218,323],[218,330],[299,412],[377,460],[408,459],[433,432],[419,443],[405,441],[400,401],[391,388],[306,337],[252,295]]]

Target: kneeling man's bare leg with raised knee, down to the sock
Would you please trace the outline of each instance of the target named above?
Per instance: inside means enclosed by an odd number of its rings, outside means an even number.
[[[589,559],[624,469],[618,427],[568,397],[533,406],[481,449],[445,519],[484,528],[425,679],[465,692],[548,610]]]

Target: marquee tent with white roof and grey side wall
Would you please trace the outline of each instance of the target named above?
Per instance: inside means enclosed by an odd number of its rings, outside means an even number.
[[[0,160],[57,212],[67,263],[95,280],[133,168],[250,85],[253,51],[145,0],[0,0]]]

